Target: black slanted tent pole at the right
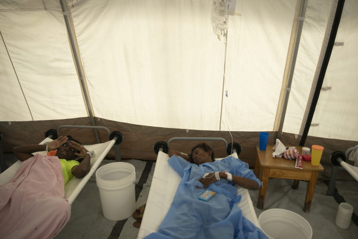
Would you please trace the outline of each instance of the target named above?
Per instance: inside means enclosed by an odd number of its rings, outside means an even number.
[[[316,86],[316,89],[315,89],[315,92],[314,92],[314,95],[312,98],[311,108],[310,108],[310,111],[307,116],[307,121],[306,121],[306,125],[303,130],[302,137],[301,137],[300,146],[304,146],[306,139],[307,139],[308,131],[310,130],[312,118],[313,118],[314,111],[316,109],[316,105],[317,105],[318,98],[319,98],[319,93],[321,92],[324,76],[326,74],[329,59],[332,54],[335,37],[337,36],[340,18],[342,17],[343,6],[344,6],[344,0],[338,0],[337,9],[336,9],[336,13],[335,13],[333,24],[332,24],[332,30],[331,30],[328,44],[327,44],[327,50],[326,50],[326,53],[323,58],[321,71],[319,72],[317,86]]]

